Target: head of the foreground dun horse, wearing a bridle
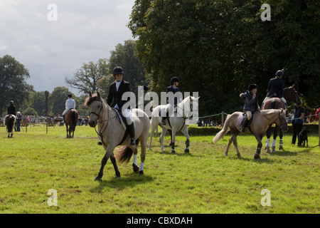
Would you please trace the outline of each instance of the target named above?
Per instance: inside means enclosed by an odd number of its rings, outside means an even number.
[[[103,100],[99,92],[97,94],[89,93],[89,97],[85,98],[85,106],[90,108],[90,119],[88,124],[91,128],[95,128],[102,114]]]

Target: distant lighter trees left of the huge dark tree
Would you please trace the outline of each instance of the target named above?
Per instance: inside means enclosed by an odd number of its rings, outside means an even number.
[[[32,85],[26,83],[30,78],[28,69],[12,56],[0,58],[0,117],[6,115],[6,107],[10,100],[14,100],[16,110],[22,115],[56,116],[65,110],[65,100],[72,94],[80,115],[88,115],[89,111],[83,103],[89,92],[99,91],[103,98],[107,98],[109,86],[114,81],[112,70],[115,66],[122,66],[125,70],[124,80],[129,81],[132,91],[138,94],[138,86],[149,82],[142,63],[138,61],[135,41],[128,40],[119,43],[110,58],[100,58],[97,62],[82,63],[73,76],[65,77],[68,85],[58,86],[48,96],[48,113],[46,113],[46,91],[36,91]],[[78,95],[70,92],[70,88],[78,90]]]

